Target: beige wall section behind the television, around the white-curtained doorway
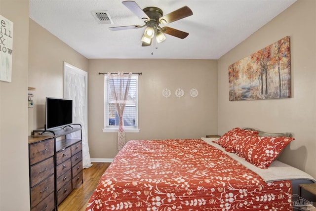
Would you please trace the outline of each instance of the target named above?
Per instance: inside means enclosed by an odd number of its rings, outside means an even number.
[[[46,97],[63,97],[64,61],[88,71],[88,59],[30,19],[29,86],[35,87],[29,108],[29,133],[44,128]]]

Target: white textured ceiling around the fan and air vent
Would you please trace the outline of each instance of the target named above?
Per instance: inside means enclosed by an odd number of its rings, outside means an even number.
[[[30,18],[88,59],[218,59],[296,0],[135,0],[168,14],[185,5],[193,15],[169,26],[190,33],[166,35],[154,47],[142,47],[144,28],[110,31],[109,27],[143,25],[120,0],[30,0]],[[92,11],[107,10],[112,25],[100,24]],[[151,54],[153,51],[153,55]]]

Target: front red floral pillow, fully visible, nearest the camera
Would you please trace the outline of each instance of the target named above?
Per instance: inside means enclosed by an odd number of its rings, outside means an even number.
[[[280,152],[295,138],[260,137],[257,135],[239,137],[233,143],[236,154],[249,163],[267,169]]]

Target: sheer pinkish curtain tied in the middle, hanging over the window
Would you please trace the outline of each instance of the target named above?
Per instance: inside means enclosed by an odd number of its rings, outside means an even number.
[[[129,90],[129,84],[132,73],[124,74],[118,72],[117,74],[108,73],[108,82],[110,84],[111,94],[115,98],[115,104],[119,117],[118,124],[118,152],[125,144],[125,131],[123,113],[126,104],[126,99]]]

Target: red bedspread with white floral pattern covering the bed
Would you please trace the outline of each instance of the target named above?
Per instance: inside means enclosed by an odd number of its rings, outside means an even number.
[[[132,140],[86,211],[286,211],[291,195],[289,180],[266,183],[203,140]]]

